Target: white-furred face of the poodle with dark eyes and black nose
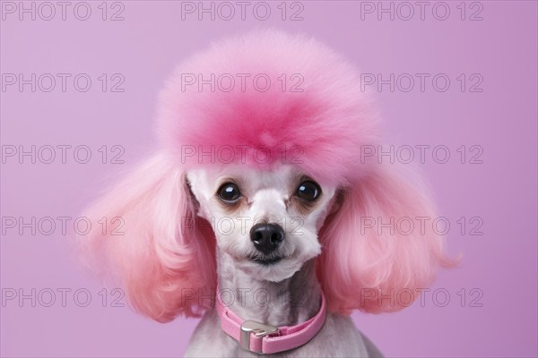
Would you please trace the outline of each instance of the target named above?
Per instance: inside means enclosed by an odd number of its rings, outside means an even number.
[[[334,208],[334,187],[294,166],[195,169],[187,180],[221,254],[251,277],[282,281],[321,252],[317,232]]]

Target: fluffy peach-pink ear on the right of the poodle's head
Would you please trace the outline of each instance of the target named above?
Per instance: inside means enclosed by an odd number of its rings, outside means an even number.
[[[340,208],[326,218],[319,235],[324,249],[317,276],[329,310],[350,314],[398,311],[430,285],[439,266],[456,263],[433,230],[435,209],[424,186],[404,167],[376,165],[343,188]],[[409,217],[414,228],[399,219]],[[424,230],[416,217],[428,217]],[[388,224],[394,220],[394,232]],[[373,226],[373,227],[372,227]],[[400,230],[398,230],[400,228]]]

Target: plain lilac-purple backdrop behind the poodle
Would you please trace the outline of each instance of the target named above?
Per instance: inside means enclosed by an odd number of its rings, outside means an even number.
[[[6,2],[3,2],[3,9]],[[8,2],[9,3],[9,2]],[[115,176],[156,147],[152,134],[155,98],[162,82],[179,60],[205,47],[208,42],[256,27],[273,26],[301,30],[342,52],[362,72],[446,73],[451,80],[445,92],[431,81],[422,92],[415,83],[409,92],[383,86],[377,93],[387,123],[387,132],[398,145],[445,145],[450,150],[446,164],[431,157],[420,164],[436,193],[438,207],[451,224],[447,234],[449,251],[462,252],[459,268],[441,271],[421,307],[394,314],[353,314],[357,326],[387,356],[536,356],[537,268],[536,268],[536,142],[537,142],[537,5],[534,1],[485,1],[465,5],[448,2],[450,15],[440,21],[432,14],[435,2],[421,20],[415,6],[409,21],[408,8],[395,6],[389,13],[363,13],[360,2],[304,2],[302,21],[282,21],[271,3],[271,16],[257,20],[247,8],[247,19],[239,13],[225,21],[211,21],[205,14],[181,19],[181,3],[172,1],[124,1],[123,21],[103,21],[98,6],[89,2],[87,21],[74,17],[74,5],[61,19],[60,8],[50,21],[30,19],[3,10],[2,73],[72,73],[65,92],[61,83],[51,92],[30,85],[20,91],[7,86],[2,94],[2,145],[86,145],[92,158],[88,164],[74,160],[73,149],[66,163],[30,163],[23,158],[5,158],[2,165],[2,217],[77,217],[84,205]],[[19,6],[19,2],[14,3]],[[25,2],[30,6],[31,2]],[[377,2],[373,3],[377,6]],[[412,2],[414,4],[414,2]],[[120,5],[108,3],[111,13]],[[206,3],[209,6],[209,3]],[[35,3],[39,6],[39,3]],[[299,7],[290,9],[291,12]],[[390,6],[390,3],[384,3]],[[460,5],[461,6],[461,5]],[[473,6],[473,7],[471,7]],[[238,10],[239,8],[236,8]],[[49,9],[41,8],[42,17]],[[79,8],[83,15],[83,9]],[[399,12],[398,12],[399,10]],[[443,9],[437,8],[438,16]],[[224,11],[224,9],[222,9]],[[470,21],[479,11],[482,21]],[[238,10],[239,12],[239,10]],[[221,13],[226,15],[227,13]],[[263,12],[260,9],[260,14]],[[400,16],[398,16],[400,15]],[[77,73],[88,73],[91,89],[74,89]],[[101,73],[108,75],[108,90],[101,90]],[[110,92],[110,77],[121,73],[124,92]],[[467,85],[460,90],[456,77],[465,73]],[[482,92],[471,92],[479,73]],[[56,78],[57,79],[57,78]],[[81,82],[82,83],[82,82]],[[440,83],[440,82],[439,82]],[[3,83],[5,84],[5,83]],[[48,86],[48,82],[44,82]],[[120,145],[125,164],[101,163],[103,145]],[[483,149],[482,164],[460,162],[456,151],[465,145]],[[44,152],[43,152],[44,153]],[[82,157],[82,152],[81,152]],[[415,159],[415,163],[417,159]],[[464,234],[456,223],[465,217]],[[472,217],[480,217],[482,235],[471,235]],[[56,222],[57,224],[58,222]],[[30,299],[20,304],[5,301],[1,309],[1,354],[3,356],[179,356],[184,352],[196,320],[178,319],[160,324],[144,319],[127,307],[112,307],[113,295],[102,307],[102,286],[82,273],[70,254],[73,220],[66,234],[59,227],[53,234],[4,227],[1,240],[2,289],[31,294],[36,289],[36,307]],[[45,228],[47,229],[48,226]],[[68,288],[65,307],[57,289]],[[85,288],[91,303],[80,307],[84,295],[74,302],[74,291]],[[473,288],[477,290],[472,291]],[[47,289],[56,292],[50,307]],[[443,289],[434,301],[432,292]],[[462,294],[466,298],[462,304]],[[41,291],[46,290],[46,291]],[[39,296],[39,292],[42,294]],[[459,295],[458,295],[459,293]],[[477,298],[479,294],[481,297]],[[476,299],[476,301],[473,301]],[[120,302],[125,303],[125,299]],[[437,304],[436,304],[437,303]],[[477,303],[478,307],[476,306]],[[482,304],[482,307],[480,306]],[[463,306],[463,307],[462,307]]]

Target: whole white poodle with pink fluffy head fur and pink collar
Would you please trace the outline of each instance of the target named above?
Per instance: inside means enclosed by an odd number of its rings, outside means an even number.
[[[381,356],[351,311],[404,308],[451,260],[428,225],[386,227],[435,210],[409,169],[362,155],[383,139],[372,108],[315,39],[214,43],[161,91],[160,151],[87,210],[117,226],[85,254],[143,315],[203,315],[187,356]]]

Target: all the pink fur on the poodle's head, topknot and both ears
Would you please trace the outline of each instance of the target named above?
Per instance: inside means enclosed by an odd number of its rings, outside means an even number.
[[[273,80],[268,88],[239,80],[225,89],[207,84],[259,74]],[[206,84],[192,85],[193,79]],[[278,79],[286,79],[287,87]],[[291,80],[298,85],[294,90]],[[360,72],[312,38],[258,30],[214,43],[179,64],[161,92],[160,153],[85,214],[98,228],[82,238],[86,257],[97,260],[91,265],[118,273],[130,303],[144,315],[160,321],[199,315],[211,306],[205,298],[216,285],[215,241],[210,226],[195,215],[187,170],[230,162],[259,170],[291,164],[322,185],[340,188],[339,209],[319,234],[323,253],[317,276],[330,310],[403,308],[381,295],[428,286],[438,266],[453,261],[428,226],[412,234],[364,231],[364,218],[386,223],[435,217],[423,185],[406,174],[409,170],[360,158],[362,146],[382,138],[371,103],[360,88]],[[226,162],[215,160],[222,148]],[[254,160],[257,149],[268,160]],[[299,153],[299,160],[282,157],[286,150]],[[103,217],[120,217],[117,231],[123,234],[104,232],[98,224]]]

